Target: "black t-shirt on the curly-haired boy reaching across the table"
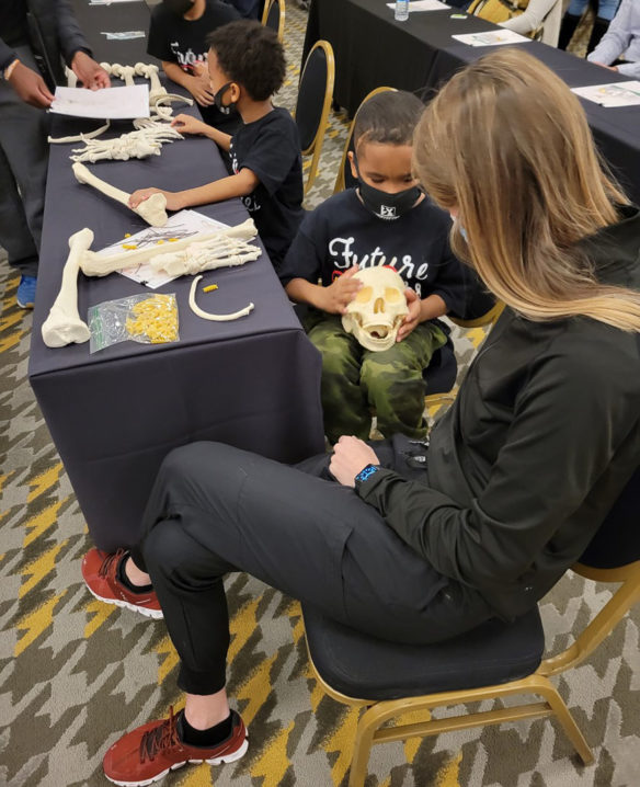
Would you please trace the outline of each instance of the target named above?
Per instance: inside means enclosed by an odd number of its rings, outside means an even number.
[[[233,173],[251,170],[260,183],[242,197],[274,266],[282,263],[298,231],[302,209],[302,161],[298,127],[274,106],[236,132],[229,149]]]

